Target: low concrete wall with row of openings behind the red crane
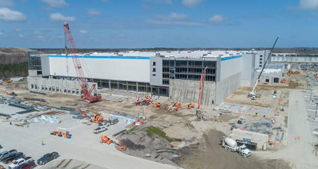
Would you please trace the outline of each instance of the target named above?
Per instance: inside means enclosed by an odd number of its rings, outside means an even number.
[[[88,89],[94,83],[88,82]],[[27,86],[30,91],[38,92],[50,92],[68,95],[81,95],[81,88],[78,81],[71,80],[60,80],[52,78],[42,78],[42,77],[27,77]],[[92,95],[97,95],[97,87],[94,88]]]

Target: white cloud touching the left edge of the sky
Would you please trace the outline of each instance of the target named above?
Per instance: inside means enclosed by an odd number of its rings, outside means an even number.
[[[0,20],[2,21],[25,21],[26,16],[19,11],[12,11],[9,8],[0,7]]]

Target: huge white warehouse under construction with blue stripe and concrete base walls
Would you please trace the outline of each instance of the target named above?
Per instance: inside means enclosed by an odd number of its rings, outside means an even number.
[[[170,97],[172,101],[197,102],[201,74],[205,83],[202,104],[217,105],[240,86],[251,86],[255,69],[264,65],[264,51],[158,51],[80,53],[90,87],[136,91]],[[271,58],[269,59],[269,63]],[[72,56],[28,52],[28,88],[31,91],[81,95]],[[91,82],[92,81],[92,82]]]

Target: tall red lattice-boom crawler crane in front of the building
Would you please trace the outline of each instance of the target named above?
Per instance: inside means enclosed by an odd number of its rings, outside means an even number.
[[[96,84],[93,84],[91,86],[91,89],[88,90],[86,78],[84,76],[81,61],[78,57],[78,52],[77,52],[77,48],[75,46],[74,38],[72,36],[72,33],[70,32],[68,24],[64,23],[63,26],[64,26],[65,37],[66,37],[66,40],[68,42],[69,53],[72,56],[73,63],[75,66],[75,71],[77,74],[77,79],[78,79],[78,82],[80,83],[81,90],[83,92],[83,96],[81,96],[81,99],[88,100],[89,102],[100,100],[102,98],[102,96],[100,96],[100,95],[98,95],[96,97],[91,96],[91,92],[94,90]]]

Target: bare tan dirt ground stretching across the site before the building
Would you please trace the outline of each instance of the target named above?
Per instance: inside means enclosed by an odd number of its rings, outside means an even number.
[[[225,102],[270,107],[273,108],[275,112],[281,107],[288,109],[290,89],[303,89],[306,84],[306,82],[302,80],[303,77],[303,74],[298,74],[298,76],[292,75],[291,77],[287,77],[288,80],[295,78],[296,82],[288,82],[276,86],[259,85],[256,90],[262,97],[260,99],[257,98],[256,101],[247,98],[249,91],[252,89],[251,87],[239,88],[229,95],[225,99]],[[141,106],[133,105],[132,100],[135,99],[134,97],[118,96],[118,98],[125,97],[123,102],[118,102],[115,97],[112,96],[109,99],[88,104],[78,101],[77,96],[50,93],[47,93],[46,96],[42,96],[29,93],[26,82],[5,84],[0,86],[0,89],[13,90],[18,94],[19,98],[43,98],[47,100],[47,103],[43,104],[53,106],[81,107],[82,110],[89,109],[95,112],[111,112],[135,118],[139,114],[146,117],[144,120],[145,125],[153,125],[164,131],[169,138],[173,138],[178,142],[185,142],[183,148],[177,149],[170,145],[170,142],[158,140],[156,137],[150,137],[147,141],[142,141],[141,138],[145,133],[141,132],[134,137],[129,137],[129,135],[118,137],[124,145],[127,145],[127,151],[125,153],[139,158],[181,166],[185,169],[292,169],[290,163],[287,161],[281,159],[269,160],[270,158],[261,159],[259,156],[254,155],[253,151],[250,157],[243,158],[238,153],[226,151],[222,148],[219,141],[220,137],[230,133],[230,125],[236,124],[240,117],[246,118],[247,122],[277,118],[275,119],[277,125],[278,122],[280,124],[280,121],[282,121],[282,125],[287,128],[288,110],[281,112],[279,117],[256,118],[253,115],[241,116],[233,113],[222,113],[222,115],[220,115],[221,112],[214,110],[214,107],[202,106],[202,109],[206,112],[204,113],[204,119],[200,121],[194,116],[194,110],[180,109],[178,112],[167,112],[163,108],[164,104],[161,108],[154,108],[151,105],[148,108],[142,108]],[[276,98],[273,98],[273,90],[277,90]],[[282,100],[278,101],[278,99]],[[162,97],[160,102],[166,103],[166,100],[165,97]],[[243,127],[243,125],[237,125],[238,127]],[[176,151],[178,157],[172,156],[174,151]],[[271,150],[268,149],[266,152],[268,151]],[[146,157],[146,154],[150,154],[151,156]],[[53,167],[56,166],[52,166],[52,168]],[[89,168],[90,167],[88,167],[88,169]]]

